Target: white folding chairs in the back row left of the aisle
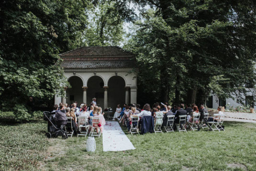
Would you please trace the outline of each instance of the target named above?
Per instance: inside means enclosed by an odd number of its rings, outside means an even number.
[[[72,123],[73,118],[67,117],[67,119],[68,119],[68,121],[67,121],[67,125],[65,125],[65,131],[68,133],[68,136],[72,137],[74,135],[74,127],[73,127],[73,123]],[[77,137],[78,136],[86,137],[89,132],[89,128],[91,126],[88,122],[88,116],[79,116],[79,117],[77,117],[77,119],[78,119],[78,130],[79,130],[79,134],[77,134]],[[101,131],[98,126],[99,123],[100,123],[99,117],[92,118],[92,130],[91,130],[89,136],[100,137]],[[98,129],[99,134],[97,133],[97,129]]]

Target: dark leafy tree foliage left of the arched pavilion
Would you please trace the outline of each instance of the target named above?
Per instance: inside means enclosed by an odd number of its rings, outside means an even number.
[[[87,1],[1,1],[0,109],[29,120],[30,96],[49,101],[67,79],[61,52],[81,45]]]

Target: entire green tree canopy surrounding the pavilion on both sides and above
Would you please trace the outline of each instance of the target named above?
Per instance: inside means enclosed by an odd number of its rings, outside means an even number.
[[[62,93],[58,54],[80,46],[132,51],[141,103],[202,104],[210,92],[241,100],[246,81],[255,83],[252,0],[4,0],[0,8],[0,110],[20,118],[30,116],[30,96]]]

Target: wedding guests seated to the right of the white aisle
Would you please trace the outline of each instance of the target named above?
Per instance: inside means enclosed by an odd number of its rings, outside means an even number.
[[[218,107],[219,114],[223,114],[221,111],[222,107]],[[123,108],[120,108],[120,105],[117,105],[116,112],[114,114],[113,120],[119,120],[119,123],[122,123],[122,125],[126,125],[128,131],[131,127],[131,116],[138,116],[140,119],[143,118],[143,116],[153,116],[154,118],[154,125],[161,125],[162,129],[164,130],[167,126],[167,116],[168,115],[174,115],[175,120],[174,123],[178,124],[179,119],[181,115],[186,115],[186,124],[193,122],[194,116],[196,114],[200,115],[198,123],[202,122],[202,120],[205,117],[205,114],[208,113],[207,109],[204,108],[204,105],[199,105],[199,108],[196,104],[186,104],[186,107],[184,104],[178,104],[172,106],[165,103],[164,105],[160,105],[159,103],[155,103],[152,108],[150,107],[150,104],[145,104],[143,106],[143,109],[140,109],[139,104],[124,104]],[[218,116],[219,117],[219,116]],[[205,121],[218,121],[218,117],[209,117]],[[157,118],[162,118],[162,121],[157,121]],[[176,125],[174,124],[174,129],[176,129]],[[200,127],[198,127],[198,131],[200,130]]]

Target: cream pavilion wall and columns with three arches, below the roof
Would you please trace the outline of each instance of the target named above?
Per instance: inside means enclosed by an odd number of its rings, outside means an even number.
[[[67,77],[67,79],[71,78],[72,76],[77,76],[82,80],[82,86],[79,85],[79,87],[88,87],[88,91],[87,91],[87,104],[90,104],[90,102],[92,101],[92,97],[95,96],[96,93],[96,87],[99,85],[99,80],[95,80],[92,81],[94,83],[92,83],[92,86],[95,87],[94,90],[90,91],[90,82],[88,82],[88,80],[93,77],[93,76],[99,76],[103,83],[104,86],[109,86],[109,80],[111,77],[113,76],[120,76],[123,78],[124,80],[124,85],[120,85],[117,86],[115,89],[120,89],[121,92],[116,91],[116,95],[117,96],[120,93],[120,96],[123,98],[123,101],[125,102],[125,89],[124,87],[130,87],[132,90],[132,93],[129,92],[129,94],[131,95],[129,97],[129,99],[131,99],[132,103],[136,103],[137,102],[137,75],[134,72],[131,72],[132,69],[89,69],[89,70],[82,70],[82,69],[76,69],[76,70],[65,70],[64,75]],[[90,79],[91,80],[91,79]],[[80,88],[76,88],[76,89],[80,89]],[[102,89],[102,88],[101,88]],[[97,92],[104,92],[104,90],[101,90],[100,88],[97,88]],[[123,94],[124,93],[124,94]],[[108,93],[109,94],[109,93]],[[115,93],[114,93],[115,94]],[[70,93],[67,94],[67,97],[69,98]],[[55,103],[60,101],[60,97],[56,97],[55,98]],[[81,99],[75,99],[75,101],[77,101],[78,103],[82,102],[82,93],[81,93]],[[108,106],[111,106],[112,109],[116,108],[116,104],[120,103],[122,105],[122,103],[124,103],[122,100],[118,100],[117,102],[115,102],[115,100],[113,100],[112,96],[108,97]],[[67,99],[67,102],[68,99]],[[104,106],[104,100],[102,98],[97,99],[97,103],[100,104],[101,108],[103,109]],[[116,103],[116,104],[115,104]],[[58,104],[58,103],[57,103]]]

